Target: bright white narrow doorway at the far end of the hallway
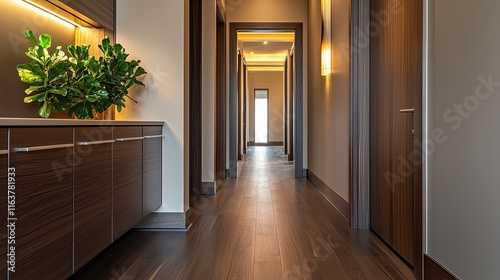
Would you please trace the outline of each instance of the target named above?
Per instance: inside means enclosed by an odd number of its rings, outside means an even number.
[[[255,143],[269,143],[269,90],[256,89],[255,96]]]

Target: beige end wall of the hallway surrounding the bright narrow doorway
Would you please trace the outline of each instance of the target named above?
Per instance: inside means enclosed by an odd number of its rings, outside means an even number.
[[[283,142],[283,71],[248,72],[249,141],[255,141],[255,90],[268,91],[269,142]]]

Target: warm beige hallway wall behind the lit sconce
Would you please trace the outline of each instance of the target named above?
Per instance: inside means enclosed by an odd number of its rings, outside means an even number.
[[[320,0],[309,1],[309,170],[349,201],[350,0],[332,2],[333,73],[321,76]],[[348,52],[347,52],[348,53]]]

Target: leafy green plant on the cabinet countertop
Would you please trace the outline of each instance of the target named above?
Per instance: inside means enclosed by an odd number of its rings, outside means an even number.
[[[48,34],[40,35],[38,40],[30,30],[24,35],[35,44],[26,52],[33,61],[19,64],[17,71],[21,81],[30,84],[25,90],[28,96],[24,102],[38,101],[41,117],[67,111],[68,116],[74,114],[79,119],[88,119],[93,118],[94,112],[102,113],[113,104],[121,111],[125,97],[130,98],[130,87],[144,86],[137,79],[147,74],[139,66],[140,60],[127,61],[129,55],[123,47],[111,45],[107,37],[99,45],[103,56],[95,59],[89,56],[90,46],[68,46],[68,58],[60,46],[49,54],[52,38]]]

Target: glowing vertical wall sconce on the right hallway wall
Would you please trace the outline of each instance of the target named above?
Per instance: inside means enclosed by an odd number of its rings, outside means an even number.
[[[321,0],[321,76],[332,73],[332,0]]]

